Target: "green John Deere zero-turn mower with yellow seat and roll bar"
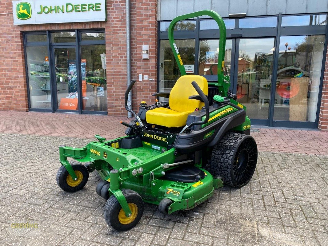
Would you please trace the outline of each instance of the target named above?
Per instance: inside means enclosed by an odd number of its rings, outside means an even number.
[[[201,15],[213,17],[219,26],[220,67],[215,81],[206,75],[186,75],[173,38],[178,21]],[[222,74],[226,40],[222,18],[212,10],[178,16],[170,24],[169,40],[181,77],[170,93],[153,94],[168,100],[142,102],[134,113],[127,106],[132,80],[125,92],[125,108],[135,120],[121,122],[127,126],[126,136],[106,140],[95,135],[97,140],[84,148],[59,147],[59,187],[79,191],[96,170],[102,179],[96,192],[107,200],[105,220],[117,231],[138,223],[144,202],[158,205],[163,214],[193,209],[215,188],[223,184],[240,188],[255,172],[257,146],[249,135],[246,107],[236,101],[229,91],[229,76]]]

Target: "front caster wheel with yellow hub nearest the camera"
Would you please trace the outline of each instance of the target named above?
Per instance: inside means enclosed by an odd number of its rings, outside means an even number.
[[[144,211],[144,203],[138,193],[126,189],[123,189],[122,193],[132,212],[130,217],[126,217],[114,195],[110,196],[104,207],[104,217],[107,224],[120,232],[132,229],[139,222]]]

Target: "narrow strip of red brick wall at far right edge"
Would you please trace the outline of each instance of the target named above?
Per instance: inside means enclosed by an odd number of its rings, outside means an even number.
[[[319,126],[320,130],[328,130],[328,50],[326,54],[325,73],[323,77],[322,97],[320,104]]]

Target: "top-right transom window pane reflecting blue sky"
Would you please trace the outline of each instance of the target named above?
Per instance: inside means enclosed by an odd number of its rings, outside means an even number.
[[[315,26],[326,25],[326,14],[282,16],[281,26]]]

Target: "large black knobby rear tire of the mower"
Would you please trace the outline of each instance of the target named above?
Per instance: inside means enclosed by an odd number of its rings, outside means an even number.
[[[234,188],[246,185],[257,163],[257,145],[253,137],[240,133],[226,133],[212,150],[208,171],[223,178]]]

